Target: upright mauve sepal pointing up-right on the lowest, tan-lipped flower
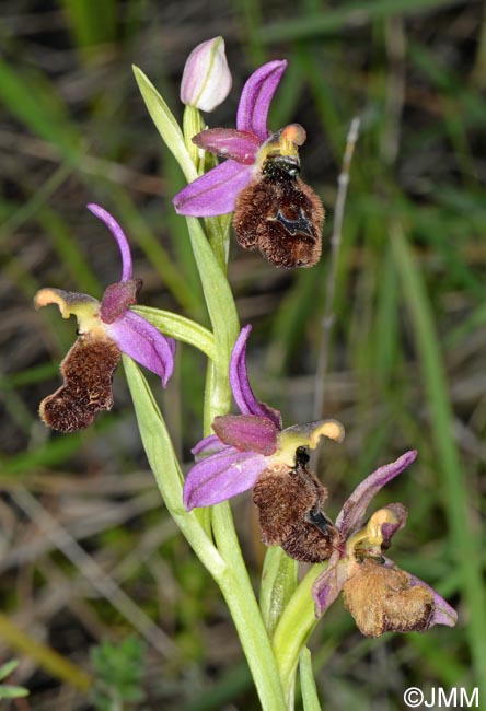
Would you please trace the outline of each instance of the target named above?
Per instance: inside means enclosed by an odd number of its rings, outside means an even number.
[[[416,450],[405,452],[396,462],[385,464],[373,471],[373,474],[370,474],[364,481],[361,481],[346,501],[336,518],[336,527],[339,528],[345,538],[348,538],[355,531],[361,528],[366,511],[373,497],[377,496],[385,483],[406,469],[416,456]]]

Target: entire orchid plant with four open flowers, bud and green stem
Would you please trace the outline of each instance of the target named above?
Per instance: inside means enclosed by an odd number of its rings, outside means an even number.
[[[60,421],[56,429],[65,432],[88,427],[99,410],[112,407],[112,375],[123,359],[157,485],[171,516],[221,590],[262,708],[292,711],[299,668],[304,708],[317,711],[306,642],[317,618],[340,594],[358,628],[370,637],[453,626],[456,614],[427,583],[383,555],[405,525],[406,508],[390,503],[366,520],[373,497],[417,453],[409,451],[367,477],[333,523],[324,511],[327,489],[309,467],[309,450],[315,450],[323,436],[342,442],[343,426],[315,419],[284,428],[280,412],[258,400],[250,384],[245,356],[251,326],[240,331],[227,278],[231,212],[241,246],[258,248],[277,267],[311,267],[321,255],[324,209],[299,178],[299,148],[305,131],[298,124],[276,132],[267,127],[270,102],[286,66],[285,60],[270,61],[250,77],[234,129],[206,129],[200,114],[212,110],[231,88],[222,38],[201,43],[187,60],[181,86],[186,105],[183,129],[147,77],[135,68],[149,113],[188,182],[173,202],[186,219],[211,328],[137,305],[141,282],[132,278],[125,234],[103,208],[89,206],[118,244],[121,277],[105,290],[101,302],[59,289],[38,292],[37,306],[57,304],[63,317],[74,314],[79,324],[78,341],[61,365],[65,384],[46,398],[40,415],[51,427]],[[355,121],[340,179],[332,272],[357,130]],[[215,165],[210,153],[225,162]],[[333,290],[332,280],[326,306],[329,324]],[[193,448],[195,464],[186,476],[153,393],[134,362],[157,373],[165,387],[173,369],[173,338],[208,359],[204,439]],[[328,331],[324,343],[328,343]],[[322,376],[325,365],[324,360]],[[317,388],[319,410],[322,399]],[[230,415],[232,400],[238,415]],[[63,419],[57,410],[53,415],[53,407],[62,409]],[[247,490],[258,511],[262,540],[269,546],[259,605],[229,504],[231,497]],[[300,584],[298,561],[316,563]],[[81,683],[88,684],[89,678]]]

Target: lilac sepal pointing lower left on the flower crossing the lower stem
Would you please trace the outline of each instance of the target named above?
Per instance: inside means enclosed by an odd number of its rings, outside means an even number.
[[[190,469],[184,485],[184,505],[190,511],[235,497],[251,489],[266,466],[267,459],[262,454],[227,446]]]

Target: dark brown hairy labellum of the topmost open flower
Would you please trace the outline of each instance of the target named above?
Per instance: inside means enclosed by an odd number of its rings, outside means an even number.
[[[276,267],[312,267],[321,257],[324,208],[291,156],[267,158],[236,198],[233,226],[245,249]]]

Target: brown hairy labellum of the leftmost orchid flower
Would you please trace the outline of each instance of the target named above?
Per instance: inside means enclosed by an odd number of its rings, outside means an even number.
[[[112,378],[120,351],[107,336],[79,336],[61,363],[63,385],[46,397],[40,419],[58,432],[76,432],[91,424],[100,410],[113,406]]]

